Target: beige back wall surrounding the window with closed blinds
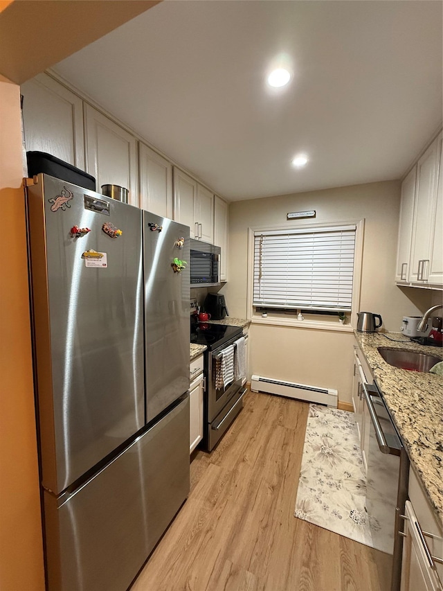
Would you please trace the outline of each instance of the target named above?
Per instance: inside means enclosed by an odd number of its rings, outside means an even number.
[[[229,281],[222,290],[230,315],[247,317],[249,312],[248,227],[285,224],[288,212],[315,209],[317,222],[365,219],[359,309],[381,314],[383,327],[398,331],[404,315],[419,315],[431,302],[428,290],[400,289],[394,283],[399,202],[400,183],[390,181],[231,203]],[[249,377],[258,373],[332,387],[339,400],[350,402],[352,333],[255,324],[250,335]]]

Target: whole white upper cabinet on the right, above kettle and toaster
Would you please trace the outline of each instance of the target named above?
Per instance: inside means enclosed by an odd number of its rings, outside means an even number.
[[[395,279],[422,287],[443,285],[442,134],[401,185]]]

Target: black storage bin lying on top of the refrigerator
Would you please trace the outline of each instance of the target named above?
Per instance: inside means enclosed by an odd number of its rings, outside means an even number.
[[[40,173],[46,173],[56,179],[72,183],[79,187],[96,191],[96,179],[85,173],[80,168],[75,168],[60,158],[46,152],[26,152],[28,161],[28,176],[33,177]]]

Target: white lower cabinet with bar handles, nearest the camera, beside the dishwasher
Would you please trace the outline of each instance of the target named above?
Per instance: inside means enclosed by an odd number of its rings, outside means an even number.
[[[440,525],[413,469],[404,520],[401,591],[442,591],[443,540]]]

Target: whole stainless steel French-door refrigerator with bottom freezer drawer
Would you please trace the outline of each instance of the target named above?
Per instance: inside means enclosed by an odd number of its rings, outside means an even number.
[[[189,228],[28,187],[47,585],[123,591],[189,491]]]

